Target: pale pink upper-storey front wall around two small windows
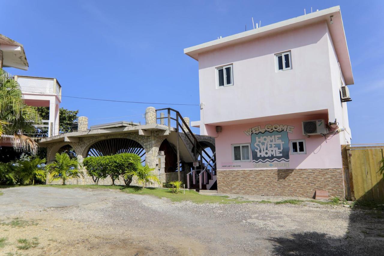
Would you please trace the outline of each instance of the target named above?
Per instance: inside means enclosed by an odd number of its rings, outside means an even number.
[[[292,69],[275,71],[275,53],[291,51]],[[233,64],[233,86],[216,88],[215,68]],[[334,119],[328,27],[313,24],[199,54],[202,123],[327,109]],[[200,133],[205,134],[204,125]]]

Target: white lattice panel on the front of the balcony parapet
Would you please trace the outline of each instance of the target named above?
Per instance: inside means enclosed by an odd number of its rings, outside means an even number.
[[[17,81],[20,89],[26,92],[53,94],[53,86],[55,86],[51,79],[18,77]]]

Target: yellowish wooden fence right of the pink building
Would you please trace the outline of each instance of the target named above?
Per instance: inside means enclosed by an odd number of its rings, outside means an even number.
[[[379,171],[384,144],[343,145],[341,149],[347,199],[384,202],[384,176]]]

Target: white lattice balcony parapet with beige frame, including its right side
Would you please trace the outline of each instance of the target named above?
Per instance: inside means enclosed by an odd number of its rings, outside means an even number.
[[[61,86],[56,78],[14,76],[23,93],[57,95],[61,101]]]

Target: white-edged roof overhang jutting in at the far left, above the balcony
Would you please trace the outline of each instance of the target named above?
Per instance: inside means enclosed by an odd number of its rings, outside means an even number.
[[[28,70],[28,61],[21,43],[0,34],[0,50],[3,51],[4,67]]]

